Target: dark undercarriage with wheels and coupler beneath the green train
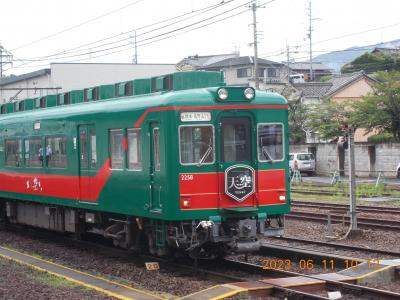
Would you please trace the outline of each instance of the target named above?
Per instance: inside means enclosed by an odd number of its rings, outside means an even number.
[[[164,221],[31,202],[0,200],[0,225],[23,224],[80,238],[85,233],[112,240],[115,246],[157,256],[189,255],[214,259],[249,253],[260,238],[283,234],[282,216],[232,217],[225,221]]]

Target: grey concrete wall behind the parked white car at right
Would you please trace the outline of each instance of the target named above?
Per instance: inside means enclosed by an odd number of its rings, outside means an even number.
[[[318,175],[330,175],[338,169],[338,150],[336,144],[291,145],[290,152],[314,152]],[[348,150],[345,151],[345,173],[348,170]],[[376,177],[384,172],[386,177],[396,176],[396,166],[400,163],[400,144],[356,144],[356,175]]]

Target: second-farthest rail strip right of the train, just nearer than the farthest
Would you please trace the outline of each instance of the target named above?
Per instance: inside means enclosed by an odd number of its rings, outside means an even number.
[[[350,224],[350,217],[343,214],[330,214],[332,224],[344,225]],[[287,219],[306,220],[318,223],[327,223],[328,215],[326,213],[306,212],[306,211],[292,211],[289,215],[285,215]],[[372,228],[382,230],[400,231],[400,221],[372,219],[358,217],[357,224],[360,228]]]

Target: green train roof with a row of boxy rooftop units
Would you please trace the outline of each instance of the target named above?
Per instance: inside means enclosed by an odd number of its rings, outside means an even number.
[[[179,75],[177,75],[179,74]],[[168,80],[165,80],[169,76]],[[225,83],[221,81],[222,75],[220,72],[179,72],[174,74],[165,75],[159,80],[163,84],[169,84],[169,88],[166,88],[162,84],[159,84],[158,88],[160,91],[149,90],[149,93],[141,93],[138,95],[128,96],[115,96],[110,95],[109,98],[101,100],[89,100],[87,102],[80,101],[74,104],[60,105],[57,102],[57,97],[63,94],[46,96],[50,105],[44,108],[31,107],[29,110],[22,110],[18,112],[8,112],[0,115],[0,122],[4,123],[15,123],[20,120],[26,121],[28,119],[43,120],[52,118],[69,118],[79,115],[89,115],[101,112],[122,112],[129,110],[140,110],[152,107],[185,107],[185,106],[206,106],[206,105],[218,105],[218,104],[236,104],[245,103],[254,105],[285,105],[287,101],[282,96],[276,93],[270,93],[265,91],[256,91],[255,99],[249,101],[242,99],[239,101],[235,99],[227,99],[227,101],[218,101],[217,91],[221,87],[227,89],[232,95],[242,93],[248,87],[231,87],[225,86]],[[177,78],[178,83],[174,85],[172,80]],[[197,80],[196,80],[197,79]],[[157,80],[157,79],[156,79]],[[154,87],[154,81],[153,87]],[[126,83],[126,82],[125,82]],[[140,83],[140,82],[139,82]],[[143,83],[143,81],[142,81]],[[151,83],[151,81],[150,81]],[[114,87],[118,87],[121,83],[117,83]],[[105,85],[110,87],[112,85]],[[156,83],[157,90],[157,83]],[[104,86],[103,86],[104,87]],[[171,88],[172,87],[172,88]],[[95,87],[96,88],[96,87]],[[90,90],[94,88],[85,89]],[[71,91],[70,93],[78,93],[82,96],[85,90]],[[154,89],[153,89],[154,90]],[[141,90],[143,91],[143,89]],[[236,93],[236,94],[235,94]],[[73,94],[72,94],[73,95]],[[74,96],[74,95],[73,95]],[[42,97],[43,98],[43,97]],[[244,97],[243,97],[244,98]],[[37,99],[25,99],[25,103],[34,104],[33,102]],[[83,99],[82,99],[83,100]],[[20,101],[21,102],[21,101]],[[11,103],[9,103],[11,104]],[[9,105],[3,104],[3,105]],[[9,105],[10,106],[10,105]],[[6,107],[7,108],[7,107]]]

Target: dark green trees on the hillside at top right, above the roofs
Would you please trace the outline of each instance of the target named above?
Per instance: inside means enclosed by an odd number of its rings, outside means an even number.
[[[365,53],[342,67],[342,73],[357,71],[373,73],[377,71],[400,71],[400,55]]]

